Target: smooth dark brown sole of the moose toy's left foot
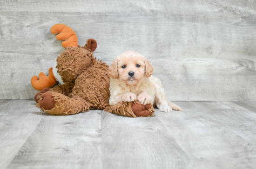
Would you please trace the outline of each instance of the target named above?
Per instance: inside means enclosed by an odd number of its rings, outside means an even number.
[[[44,108],[45,110],[53,109],[55,104],[56,102],[52,96],[52,93],[46,92],[40,96],[40,107]]]

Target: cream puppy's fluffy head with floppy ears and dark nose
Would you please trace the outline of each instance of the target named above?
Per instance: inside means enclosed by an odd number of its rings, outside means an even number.
[[[109,73],[111,78],[119,78],[130,85],[150,77],[153,74],[153,67],[140,53],[127,51],[112,62]]]

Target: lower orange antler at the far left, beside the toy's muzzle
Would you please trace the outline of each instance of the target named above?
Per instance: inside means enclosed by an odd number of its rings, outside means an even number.
[[[49,69],[49,76],[46,76],[43,72],[39,73],[39,79],[37,76],[31,78],[31,84],[33,88],[37,91],[41,91],[44,88],[51,88],[57,83],[56,78],[54,77],[53,68]]]

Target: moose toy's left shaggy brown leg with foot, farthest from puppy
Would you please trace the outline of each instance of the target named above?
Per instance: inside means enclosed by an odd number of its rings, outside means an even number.
[[[81,97],[67,97],[61,93],[46,92],[39,97],[37,106],[52,115],[70,115],[87,111],[90,104]]]

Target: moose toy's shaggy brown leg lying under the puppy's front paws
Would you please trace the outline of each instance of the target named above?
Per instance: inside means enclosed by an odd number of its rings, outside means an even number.
[[[152,117],[155,112],[152,104],[143,105],[136,101],[119,102],[115,105],[108,105],[104,110],[128,117]]]

